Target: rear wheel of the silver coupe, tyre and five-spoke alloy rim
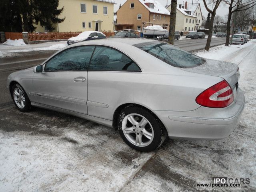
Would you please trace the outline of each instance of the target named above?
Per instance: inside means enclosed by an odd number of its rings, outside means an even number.
[[[162,122],[150,110],[127,106],[118,116],[118,131],[128,146],[141,152],[159,148],[167,136]]]

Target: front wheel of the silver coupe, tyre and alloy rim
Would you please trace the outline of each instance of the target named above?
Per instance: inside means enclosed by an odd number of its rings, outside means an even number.
[[[31,109],[30,100],[28,95],[20,86],[20,84],[16,83],[12,86],[12,100],[16,106],[16,108],[22,112],[26,112]]]

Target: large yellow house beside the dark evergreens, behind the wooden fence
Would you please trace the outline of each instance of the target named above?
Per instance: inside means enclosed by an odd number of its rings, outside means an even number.
[[[114,2],[111,0],[60,0],[58,16],[64,22],[56,24],[57,32],[113,31]],[[38,25],[36,32],[47,29]]]

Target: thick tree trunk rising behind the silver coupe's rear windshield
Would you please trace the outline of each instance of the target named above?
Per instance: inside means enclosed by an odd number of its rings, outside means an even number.
[[[170,28],[169,28],[169,37],[168,43],[174,44],[175,38],[175,24],[176,24],[176,7],[177,7],[177,0],[172,0],[171,2],[171,14],[170,14]]]

